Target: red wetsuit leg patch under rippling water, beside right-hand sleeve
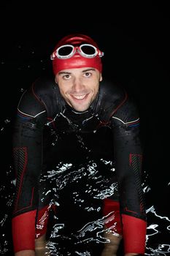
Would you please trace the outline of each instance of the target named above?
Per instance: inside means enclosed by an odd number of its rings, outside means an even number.
[[[112,211],[114,211],[112,214]],[[108,215],[109,214],[109,215]],[[122,235],[122,225],[120,220],[120,203],[109,198],[104,199],[103,216],[107,216],[111,219],[109,222],[105,222],[104,225],[110,230]]]

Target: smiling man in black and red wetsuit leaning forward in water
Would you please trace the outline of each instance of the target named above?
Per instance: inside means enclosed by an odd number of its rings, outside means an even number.
[[[146,215],[139,116],[120,86],[102,80],[103,55],[86,35],[63,37],[51,55],[55,78],[39,78],[20,99],[13,136],[17,172],[12,218],[15,256],[34,256],[35,252],[45,255],[50,199],[42,202],[40,180],[51,157],[46,157],[50,148],[47,130],[57,135],[93,135],[102,127],[112,132],[116,170],[113,176],[119,194],[118,198],[104,198],[103,215],[106,218],[111,214],[114,223],[108,219],[104,222],[105,237],[110,243],[105,244],[102,256],[116,255],[122,236],[125,256],[144,254]]]

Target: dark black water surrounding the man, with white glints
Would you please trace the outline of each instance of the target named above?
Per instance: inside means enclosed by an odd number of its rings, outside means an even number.
[[[39,75],[50,72],[50,54],[55,42],[74,31],[87,33],[98,40],[105,52],[104,76],[123,83],[136,98],[144,140],[145,255],[170,255],[169,150],[166,149],[169,148],[169,9],[166,10],[161,3],[156,6],[149,2],[147,6],[134,8],[128,1],[125,7],[121,4],[118,9],[107,10],[107,18],[104,19],[98,4],[99,12],[90,12],[90,21],[87,21],[87,12],[85,15],[73,13],[67,8],[65,17],[68,15],[69,25],[63,26],[50,4],[42,4],[36,9],[25,1],[18,3],[1,2],[0,10],[0,255],[13,255],[11,217],[15,176],[11,139],[18,100]],[[101,18],[95,18],[94,13],[100,13]],[[108,190],[101,186],[99,170],[107,170],[112,163],[105,156],[92,157],[81,136],[76,141],[77,148],[85,150],[89,156],[86,162],[75,164],[72,157],[67,161],[61,159],[44,177],[45,181],[53,182],[53,189],[45,190],[43,195],[53,194],[58,208],[58,214],[50,217],[49,246],[52,255],[96,256],[106,242],[103,238],[101,200],[116,192],[114,184]],[[61,182],[56,184],[55,177]],[[122,247],[123,244],[119,255],[123,255]]]

